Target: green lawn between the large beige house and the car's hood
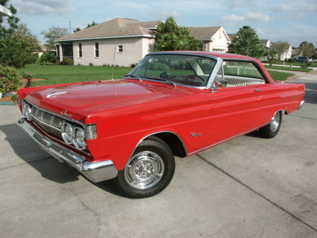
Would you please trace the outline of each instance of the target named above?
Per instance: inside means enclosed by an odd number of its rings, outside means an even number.
[[[132,68],[115,67],[115,79],[123,78]],[[18,73],[31,72],[34,78],[44,78],[45,81],[35,81],[35,86],[55,85],[60,83],[75,83],[85,81],[101,81],[112,78],[112,67],[108,66],[66,66],[27,64]]]

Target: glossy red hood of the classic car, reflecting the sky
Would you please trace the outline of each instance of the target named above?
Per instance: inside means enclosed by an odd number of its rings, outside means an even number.
[[[29,93],[26,99],[51,112],[87,114],[101,112],[129,105],[167,100],[190,94],[200,94],[203,90],[153,81],[94,81],[71,85],[52,86]]]

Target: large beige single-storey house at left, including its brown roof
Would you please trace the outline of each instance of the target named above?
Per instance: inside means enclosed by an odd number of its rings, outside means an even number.
[[[130,66],[154,51],[154,30],[161,20],[142,22],[115,18],[56,40],[60,60],[74,64]]]

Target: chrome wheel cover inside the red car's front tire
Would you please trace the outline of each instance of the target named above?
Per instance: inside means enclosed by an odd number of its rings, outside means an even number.
[[[125,181],[133,188],[149,189],[161,180],[164,162],[158,154],[144,151],[132,157],[124,173]]]

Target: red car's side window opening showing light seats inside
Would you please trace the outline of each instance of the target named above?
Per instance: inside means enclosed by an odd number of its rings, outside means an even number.
[[[244,61],[223,61],[223,75],[226,88],[266,83],[256,66]]]

